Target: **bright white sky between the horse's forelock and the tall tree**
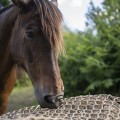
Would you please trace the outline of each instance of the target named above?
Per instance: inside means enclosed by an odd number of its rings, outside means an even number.
[[[58,0],[59,9],[64,18],[64,24],[71,30],[84,31],[85,14],[91,0]],[[92,0],[95,6],[99,6],[103,0]]]

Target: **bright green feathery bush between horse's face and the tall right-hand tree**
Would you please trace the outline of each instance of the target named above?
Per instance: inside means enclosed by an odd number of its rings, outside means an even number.
[[[104,62],[108,54],[101,41],[89,31],[86,33],[64,33],[66,58],[60,57],[60,69],[65,85],[65,96],[80,94],[118,95],[119,80],[114,81],[110,69]]]

